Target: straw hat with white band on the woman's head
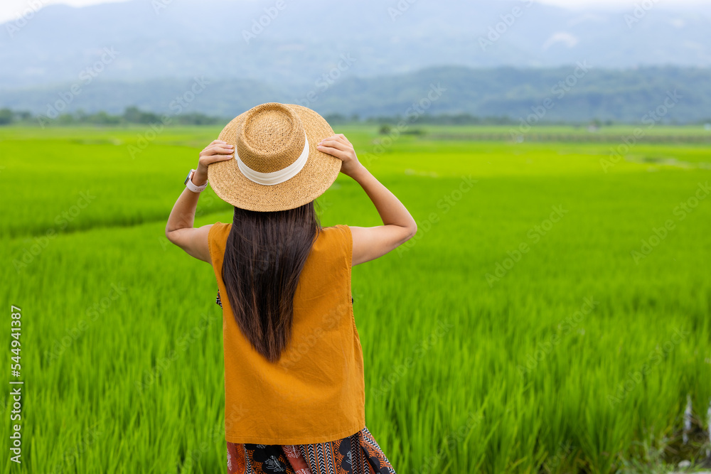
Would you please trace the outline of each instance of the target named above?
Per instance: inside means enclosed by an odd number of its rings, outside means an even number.
[[[235,146],[235,158],[210,163],[210,187],[220,199],[247,210],[310,203],[341,171],[341,160],[316,149],[332,135],[326,119],[311,109],[278,102],[257,105],[220,132],[220,140]]]

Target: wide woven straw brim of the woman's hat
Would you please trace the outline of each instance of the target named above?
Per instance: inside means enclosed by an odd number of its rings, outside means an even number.
[[[251,181],[242,174],[237,159],[218,161],[208,166],[208,181],[215,194],[235,208],[260,212],[298,208],[318,198],[341,172],[342,161],[316,149],[319,141],[332,136],[333,129],[313,110],[296,104],[290,107],[301,119],[309,139],[309,158],[306,165],[293,178],[275,185],[263,185]],[[237,149],[237,130],[247,112],[232,119],[220,132],[218,139]]]

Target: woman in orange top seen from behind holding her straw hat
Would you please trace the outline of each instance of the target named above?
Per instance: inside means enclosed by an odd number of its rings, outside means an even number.
[[[383,220],[319,225],[314,200],[341,172]],[[231,223],[193,228],[207,186]],[[262,104],[201,153],[166,236],[212,264],[223,308],[225,439],[230,473],[395,473],[365,427],[363,351],[351,266],[407,242],[417,225],[319,114]]]

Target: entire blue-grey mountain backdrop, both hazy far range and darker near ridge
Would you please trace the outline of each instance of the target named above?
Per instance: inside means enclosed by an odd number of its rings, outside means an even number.
[[[647,4],[50,5],[3,25],[0,107],[48,117],[78,109],[117,113],[130,105],[230,117],[277,101],[372,117],[405,115],[441,83],[447,91],[428,113],[518,118],[552,97],[546,119],[639,122],[679,90],[680,102],[663,119],[707,119],[711,9]]]

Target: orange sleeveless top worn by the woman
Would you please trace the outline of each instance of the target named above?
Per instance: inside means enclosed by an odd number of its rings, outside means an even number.
[[[223,307],[225,439],[232,443],[311,444],[365,428],[363,349],[353,318],[347,225],[324,227],[294,295],[292,338],[277,362],[242,335],[222,279],[232,224],[210,227],[208,245]]]

